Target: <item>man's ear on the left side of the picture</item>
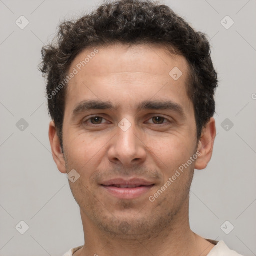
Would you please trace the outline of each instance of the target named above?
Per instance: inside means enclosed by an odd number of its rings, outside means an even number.
[[[64,154],[60,147],[59,137],[54,122],[51,120],[49,124],[49,140],[52,157],[61,173],[66,173]]]

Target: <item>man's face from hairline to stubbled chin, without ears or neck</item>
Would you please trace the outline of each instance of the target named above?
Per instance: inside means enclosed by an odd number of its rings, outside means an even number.
[[[153,45],[97,49],[83,50],[69,69],[78,73],[67,85],[63,149],[66,172],[80,175],[71,191],[83,218],[101,230],[152,233],[187,215],[195,161],[172,179],[197,149],[187,61]],[[87,55],[95,56],[79,70]],[[178,79],[169,74],[174,67]],[[78,108],[86,100],[114,108]]]

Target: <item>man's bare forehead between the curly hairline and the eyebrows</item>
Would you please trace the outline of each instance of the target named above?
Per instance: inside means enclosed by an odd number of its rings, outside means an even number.
[[[89,98],[111,101],[116,93],[130,94],[134,101],[143,95],[145,99],[153,94],[171,95],[170,91],[186,96],[187,61],[162,45],[112,44],[86,48],[72,61],[69,73],[74,69],[76,74],[68,83],[66,95],[66,104],[73,107]],[[171,77],[172,70],[182,74],[179,79]]]

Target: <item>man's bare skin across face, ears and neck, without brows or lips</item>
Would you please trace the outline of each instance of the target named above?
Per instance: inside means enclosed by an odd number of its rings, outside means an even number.
[[[94,48],[73,60],[70,72]],[[189,226],[189,188],[194,168],[210,161],[215,120],[210,118],[196,139],[196,123],[187,96],[188,64],[159,45],[113,44],[97,47],[95,55],[69,82],[63,121],[63,149],[54,122],[49,140],[54,161],[62,173],[75,169],[80,178],[69,181],[80,206],[85,245],[74,253],[87,255],[207,255],[214,247]],[[174,80],[169,72],[183,75]],[[110,101],[117,109],[94,109],[72,118],[83,100]],[[172,100],[184,117],[168,109],[138,110],[144,100]],[[100,116],[102,119],[90,119]],[[163,118],[155,119],[155,116]],[[126,118],[125,132],[118,123]],[[166,119],[164,119],[166,118]],[[149,196],[196,151],[200,156],[154,202]],[[134,199],[113,197],[100,182],[115,177],[140,177],[155,184]]]

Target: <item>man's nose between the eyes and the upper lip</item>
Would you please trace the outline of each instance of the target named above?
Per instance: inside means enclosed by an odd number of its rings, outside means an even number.
[[[124,166],[143,163],[146,159],[146,145],[135,124],[131,124],[128,129],[117,126],[116,131],[108,150],[109,161]]]

